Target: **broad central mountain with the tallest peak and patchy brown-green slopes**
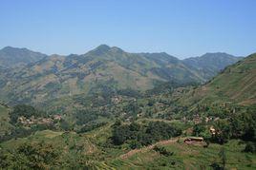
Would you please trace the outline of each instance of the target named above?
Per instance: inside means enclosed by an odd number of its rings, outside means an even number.
[[[28,62],[24,67],[0,71],[0,100],[11,104],[41,104],[100,90],[147,90],[166,82],[179,85],[209,80],[202,76],[202,70],[186,66],[164,52],[128,53],[119,47],[101,45],[82,55],[45,56],[39,53],[37,56],[42,59]]]

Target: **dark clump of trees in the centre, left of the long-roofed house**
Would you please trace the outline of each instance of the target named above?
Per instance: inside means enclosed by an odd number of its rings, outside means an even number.
[[[154,142],[168,140],[181,135],[181,129],[164,122],[148,124],[117,122],[113,125],[112,142],[116,145],[128,143],[131,148],[139,148]]]

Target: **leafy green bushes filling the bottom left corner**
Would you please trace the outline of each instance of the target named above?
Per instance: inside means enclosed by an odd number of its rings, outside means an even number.
[[[0,150],[0,169],[50,169],[60,165],[60,153],[45,142],[25,143],[13,151]]]

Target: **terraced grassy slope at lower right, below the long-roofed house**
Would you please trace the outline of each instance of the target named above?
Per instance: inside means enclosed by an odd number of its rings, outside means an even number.
[[[213,162],[221,162],[218,153],[223,146],[219,144],[210,144],[208,148],[202,146],[187,145],[185,143],[171,142],[160,144],[168,151],[174,152],[173,156],[165,157],[155,152],[153,149],[141,149],[140,152],[128,157],[117,158],[109,161],[107,164],[117,169],[210,169]],[[236,169],[255,169],[256,156],[241,152],[244,144],[238,141],[231,141],[224,145],[226,152],[226,168]],[[171,162],[175,164],[172,165]]]

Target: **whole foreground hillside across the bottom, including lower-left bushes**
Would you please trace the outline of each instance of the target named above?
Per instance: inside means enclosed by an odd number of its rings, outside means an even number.
[[[203,147],[173,138],[130,150],[127,145],[115,147],[108,142],[109,128],[106,125],[84,134],[44,130],[28,138],[2,142],[0,156],[6,162],[2,167],[14,168],[18,164],[24,168],[41,165],[68,169],[212,169],[222,165],[220,152],[224,149],[226,168],[255,169],[256,156],[243,152],[245,143],[241,141]],[[11,153],[13,149],[17,152]],[[32,161],[33,156],[42,159]]]

